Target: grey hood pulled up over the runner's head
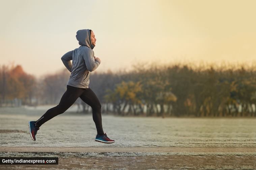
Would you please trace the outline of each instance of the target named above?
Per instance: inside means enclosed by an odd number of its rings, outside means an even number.
[[[79,42],[79,45],[85,45],[91,49],[94,48],[94,45],[91,43],[91,34],[89,29],[78,30],[76,38]]]

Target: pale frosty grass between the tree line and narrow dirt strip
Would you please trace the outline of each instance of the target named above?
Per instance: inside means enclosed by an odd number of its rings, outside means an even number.
[[[72,112],[46,122],[32,141],[28,121],[37,120],[48,108],[0,108],[0,146],[256,146],[254,118],[119,117],[103,113],[103,130],[116,141],[107,145],[94,141],[92,114]]]

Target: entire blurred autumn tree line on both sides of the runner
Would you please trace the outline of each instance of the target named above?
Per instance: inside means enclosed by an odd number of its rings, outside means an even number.
[[[132,71],[92,72],[89,87],[103,113],[146,116],[256,116],[256,70],[251,66],[137,65]],[[58,104],[70,73],[40,79],[21,66],[0,68],[1,105]],[[90,107],[79,101],[83,111]]]

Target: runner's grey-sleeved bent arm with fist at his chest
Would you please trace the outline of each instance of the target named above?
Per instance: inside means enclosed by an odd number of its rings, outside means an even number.
[[[86,50],[84,55],[83,55],[85,65],[88,69],[88,71],[92,72],[96,70],[96,68],[101,64],[98,60],[94,61],[94,52],[93,50]]]

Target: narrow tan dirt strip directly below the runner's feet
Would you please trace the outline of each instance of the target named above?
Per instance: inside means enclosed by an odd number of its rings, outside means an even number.
[[[0,152],[251,152],[256,147],[0,147]]]

